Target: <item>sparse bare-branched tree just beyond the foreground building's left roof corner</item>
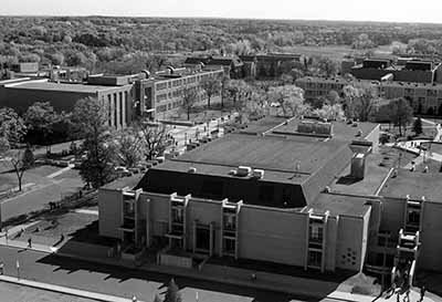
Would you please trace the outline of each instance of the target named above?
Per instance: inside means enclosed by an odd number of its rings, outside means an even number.
[[[167,147],[167,127],[162,124],[139,123],[136,126],[143,139],[143,152],[146,160],[162,154]]]

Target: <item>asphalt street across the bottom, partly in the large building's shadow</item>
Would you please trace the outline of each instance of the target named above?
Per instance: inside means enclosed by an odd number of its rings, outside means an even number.
[[[169,275],[149,273],[131,269],[96,264],[72,260],[36,251],[0,247],[0,260],[4,262],[4,274],[17,275],[15,261],[20,263],[23,279],[76,288],[93,292],[130,298],[136,295],[143,301],[151,301],[156,293],[162,293]],[[296,302],[282,293],[240,288],[235,285],[206,282],[188,278],[176,278],[183,301],[198,302]]]

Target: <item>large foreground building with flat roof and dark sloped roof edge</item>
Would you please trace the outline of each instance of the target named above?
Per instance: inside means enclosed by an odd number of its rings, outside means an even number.
[[[376,150],[378,125],[365,124],[354,142],[358,128],[344,122],[280,122],[204,144],[150,168],[136,185],[103,187],[99,233],[122,240],[123,250],[157,247],[161,264],[187,267],[186,259],[206,254],[360,271],[370,198],[324,190],[355,155],[364,162]]]

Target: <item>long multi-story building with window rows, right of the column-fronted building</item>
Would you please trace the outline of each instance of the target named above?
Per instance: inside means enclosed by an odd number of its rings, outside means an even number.
[[[207,94],[201,87],[201,81],[208,77],[222,80],[222,67],[204,67],[202,70],[172,69],[161,71],[135,82],[135,97],[144,115],[151,118],[166,117],[175,113],[182,104],[185,88],[197,88],[199,102],[207,100]],[[212,95],[213,101],[219,101],[221,92]]]

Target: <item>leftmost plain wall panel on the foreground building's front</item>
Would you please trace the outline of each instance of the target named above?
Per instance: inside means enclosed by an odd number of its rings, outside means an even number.
[[[123,194],[120,190],[99,189],[98,230],[104,237],[123,239],[118,228],[123,225]]]

